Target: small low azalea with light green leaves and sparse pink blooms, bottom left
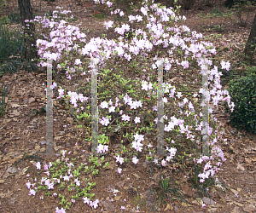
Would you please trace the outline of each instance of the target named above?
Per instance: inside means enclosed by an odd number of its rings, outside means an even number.
[[[33,175],[38,176],[34,180],[38,182],[36,184],[32,184],[29,180],[26,183],[26,187],[30,190],[30,194],[35,195],[39,190],[45,190],[46,196],[59,197],[61,199],[61,206],[65,207],[65,209],[70,209],[71,206],[80,198],[84,199],[84,203],[90,204],[96,208],[99,200],[96,199],[94,202],[91,199],[94,197],[94,193],[90,194],[91,187],[96,186],[96,182],[91,182],[89,178],[83,178],[79,180],[79,177],[84,173],[85,176],[89,176],[91,173],[92,176],[96,176],[98,174],[98,167],[101,166],[104,157],[98,158],[93,155],[90,156],[89,162],[90,164],[81,163],[81,165],[76,164],[76,158],[72,158],[71,162],[69,158],[65,156],[67,151],[61,150],[61,160],[57,159],[55,163],[49,162],[49,164],[44,164],[44,171],[41,170],[41,164],[38,162],[35,166],[38,169],[38,172],[34,171]],[[70,154],[70,153],[68,153]],[[25,156],[22,158],[36,158],[35,156]],[[103,167],[106,167],[105,164]],[[77,168],[77,169],[75,169]],[[28,175],[29,176],[29,175]],[[43,177],[42,177],[43,176]],[[63,180],[63,181],[62,181]],[[33,187],[33,188],[32,188]],[[67,192],[67,190],[69,192]],[[69,198],[65,198],[61,193],[68,195]],[[42,195],[40,199],[44,199],[45,196]],[[63,210],[61,207],[61,210]],[[56,208],[56,212],[58,212],[59,208]],[[62,212],[62,211],[61,211]]]

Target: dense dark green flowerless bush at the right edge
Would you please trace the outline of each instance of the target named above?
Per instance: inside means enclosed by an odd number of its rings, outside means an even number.
[[[256,74],[250,73],[238,81],[231,80],[228,89],[231,101],[235,103],[230,113],[230,124],[238,130],[256,134]],[[230,112],[225,105],[225,112]]]

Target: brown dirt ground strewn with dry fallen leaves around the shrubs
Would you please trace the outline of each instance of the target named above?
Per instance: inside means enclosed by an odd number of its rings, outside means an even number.
[[[90,3],[88,9],[86,3]],[[91,2],[82,2],[82,6],[68,1],[58,1],[50,3],[42,1],[41,11],[39,11],[39,1],[32,1],[32,7],[35,13],[42,15],[49,10],[53,11],[56,6],[63,6],[64,9],[72,9],[73,15],[79,20],[76,23],[82,24],[83,27],[90,29],[89,37],[101,37],[102,33],[107,33],[107,37],[115,38],[113,32],[107,32],[103,28],[105,20],[97,20],[93,13],[101,9],[100,5]],[[69,7],[71,5],[71,7]],[[6,8],[6,13],[18,11],[16,3]],[[185,25],[191,30],[202,32],[203,36],[212,37],[213,43],[221,45],[221,42],[232,43],[234,51],[244,47],[253,23],[254,14],[247,21],[248,26],[242,27],[237,23],[225,23],[223,32],[216,32],[214,25],[217,25],[221,19],[203,20],[200,13],[207,13],[211,8],[199,10],[196,7],[189,11],[181,11],[187,18]],[[108,14],[109,11],[105,11]],[[108,16],[106,20],[114,20]],[[211,23],[212,21],[212,23]],[[209,27],[202,28],[203,25]],[[213,35],[220,34],[220,39],[214,39]],[[243,69],[234,60],[233,53],[223,55],[224,58],[230,60],[230,63],[236,64],[236,69]],[[28,196],[29,190],[26,187],[27,180],[32,181],[31,177],[26,176],[26,168],[35,168],[38,159],[21,160],[20,164],[14,166],[16,162],[24,156],[31,154],[43,158],[42,162],[55,162],[57,156],[48,158],[42,155],[45,151],[45,134],[46,134],[46,118],[45,113],[31,116],[32,109],[41,109],[45,106],[45,93],[43,83],[45,83],[45,73],[30,73],[20,70],[13,75],[4,75],[1,83],[9,84],[12,87],[9,98],[9,109],[3,118],[0,118],[0,212],[55,212],[55,207],[60,207],[59,199],[46,197],[41,200],[39,197],[43,192],[37,193],[35,196]],[[65,104],[62,106],[58,101],[54,101],[56,109],[54,109],[54,142],[55,153],[59,153],[62,149],[67,152],[72,151],[70,157],[78,157],[78,164],[88,161],[89,155],[84,155],[81,150],[89,153],[88,144],[84,144],[81,139],[81,130],[76,128],[71,113],[66,112]],[[189,176],[189,170],[183,170],[183,173],[177,170],[162,170],[166,176],[171,176],[178,180],[179,187],[186,194],[186,204],[180,203],[179,200],[168,201],[163,204],[160,212],[256,212],[256,135],[249,134],[245,131],[237,131],[230,127],[228,118],[224,115],[224,107],[218,106],[215,110],[215,118],[221,121],[224,127],[224,136],[226,144],[222,141],[218,142],[218,146],[222,147],[224,156],[227,160],[222,164],[221,170],[216,177],[220,181],[225,190],[221,190],[216,184],[215,187],[209,189],[211,199],[214,204],[207,204],[207,207],[201,208],[202,200],[199,198],[195,190],[190,190],[190,185],[184,176]],[[66,125],[66,126],[65,126]],[[64,127],[65,126],[65,127]],[[67,212],[149,212],[148,209],[153,204],[150,188],[159,180],[158,170],[154,170],[154,176],[150,177],[150,166],[146,158],[142,156],[142,160],[136,166],[125,164],[122,175],[116,172],[115,160],[113,160],[115,150],[118,150],[119,139],[114,138],[109,147],[109,152],[105,158],[112,162],[108,169],[102,169],[96,177],[89,176],[96,181],[96,187],[92,187],[90,193],[95,193],[95,199],[100,200],[100,207],[92,210],[87,204],[78,201],[71,210]],[[148,141],[155,142],[154,139],[148,138]],[[75,145],[77,143],[77,145]],[[130,189],[137,190],[138,197],[133,196]],[[68,193],[68,192],[66,192]],[[209,203],[208,199],[204,199],[205,203]],[[125,210],[120,210],[121,206],[125,206]]]

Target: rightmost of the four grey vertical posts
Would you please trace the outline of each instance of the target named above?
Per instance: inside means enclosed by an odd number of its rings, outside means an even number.
[[[209,155],[208,141],[208,107],[209,107],[209,91],[208,91],[208,66],[207,59],[203,60],[202,66],[202,154]]]

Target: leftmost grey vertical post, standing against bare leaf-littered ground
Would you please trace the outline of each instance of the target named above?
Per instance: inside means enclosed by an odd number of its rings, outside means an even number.
[[[53,156],[52,60],[47,60],[46,155]]]

